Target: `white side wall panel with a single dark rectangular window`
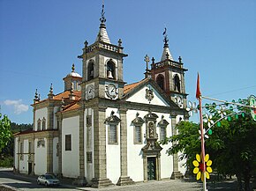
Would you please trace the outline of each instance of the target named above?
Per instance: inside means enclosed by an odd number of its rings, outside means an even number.
[[[79,176],[79,116],[65,118],[62,127],[62,173],[64,177]],[[65,151],[65,135],[72,135],[72,151]]]

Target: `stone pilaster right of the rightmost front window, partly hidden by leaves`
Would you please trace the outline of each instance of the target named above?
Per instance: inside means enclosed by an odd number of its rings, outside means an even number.
[[[177,135],[177,120],[176,120],[177,114],[171,114],[171,128],[172,128],[172,135]],[[183,174],[178,171],[178,159],[177,154],[173,155],[173,172],[171,174],[170,179],[181,179],[183,178]]]

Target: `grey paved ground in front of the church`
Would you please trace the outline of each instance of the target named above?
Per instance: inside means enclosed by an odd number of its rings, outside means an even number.
[[[1,184],[11,187],[17,187],[19,190],[51,190],[51,191],[72,191],[72,190],[87,190],[87,191],[200,191],[202,184],[192,180],[161,180],[139,182],[132,186],[113,186],[108,188],[92,188],[92,187],[77,187],[72,185],[72,180],[61,180],[60,187],[44,187],[36,184],[36,177],[14,174],[11,169],[0,169],[0,186]],[[236,180],[225,181],[222,183],[209,183],[207,185],[209,191],[234,191],[237,188]],[[1,190],[1,187],[0,187]]]

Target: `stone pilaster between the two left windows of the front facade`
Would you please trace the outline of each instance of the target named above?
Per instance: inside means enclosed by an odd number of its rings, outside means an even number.
[[[127,174],[127,110],[120,109],[120,168],[121,176],[117,181],[118,186],[134,184],[134,181]]]

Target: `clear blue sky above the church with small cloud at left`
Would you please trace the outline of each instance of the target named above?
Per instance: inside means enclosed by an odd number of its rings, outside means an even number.
[[[93,43],[102,0],[0,0],[0,105],[11,121],[32,123],[35,89],[47,97],[63,92],[72,63],[81,74],[84,41]],[[162,55],[167,27],[169,49],[182,56],[188,99],[195,101],[200,72],[203,95],[216,99],[256,94],[255,0],[105,0],[112,43],[123,40],[124,81],[141,80],[144,56]]]

